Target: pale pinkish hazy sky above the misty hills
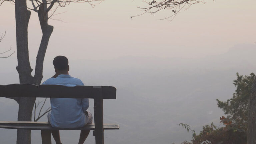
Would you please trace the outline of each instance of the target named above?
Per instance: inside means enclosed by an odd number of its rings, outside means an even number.
[[[71,3],[59,8],[49,20],[54,26],[46,58],[65,55],[72,59],[112,59],[126,55],[159,57],[203,57],[228,51],[236,44],[256,42],[256,1],[206,0],[182,10],[173,21],[157,20],[170,10],[142,15],[142,0],[105,0],[95,8],[87,3]],[[0,7],[0,32],[6,37],[0,50],[16,48],[14,5]],[[30,59],[36,57],[41,40],[37,14],[29,21]],[[14,58],[15,56],[13,56]]]

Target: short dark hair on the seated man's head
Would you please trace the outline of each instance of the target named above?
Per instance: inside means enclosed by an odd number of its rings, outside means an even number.
[[[65,56],[56,56],[52,63],[57,70],[68,69],[68,59]]]

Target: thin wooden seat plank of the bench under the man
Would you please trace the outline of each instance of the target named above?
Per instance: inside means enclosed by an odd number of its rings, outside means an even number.
[[[29,129],[29,130],[95,130],[94,124],[87,124],[81,128],[53,128],[47,122],[27,121],[0,121],[0,128],[7,129]],[[117,124],[103,124],[104,129],[119,129]]]

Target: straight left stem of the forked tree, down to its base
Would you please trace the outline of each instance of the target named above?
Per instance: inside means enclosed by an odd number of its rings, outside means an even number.
[[[20,83],[30,83],[32,81],[31,67],[28,56],[28,22],[31,12],[27,10],[26,0],[15,1],[15,19],[16,19],[16,43],[17,60],[16,67]],[[35,98],[20,98],[18,121],[31,121],[31,113]],[[30,130],[17,130],[17,144],[30,144]]]

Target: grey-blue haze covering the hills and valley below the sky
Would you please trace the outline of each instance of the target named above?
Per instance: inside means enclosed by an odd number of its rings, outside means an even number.
[[[117,88],[116,100],[104,100],[104,122],[118,123],[120,129],[106,130],[105,143],[180,143],[191,140],[192,134],[179,127],[178,123],[189,124],[197,134],[202,126],[211,122],[222,126],[219,117],[224,113],[217,107],[215,99],[225,101],[232,97],[236,72],[240,75],[255,73],[254,53],[254,45],[238,45],[226,53],[198,59],[138,56],[112,60],[70,59],[70,74],[79,77],[85,85]],[[8,61],[3,59],[0,63]],[[0,84],[18,82],[16,62],[11,63],[12,66],[0,71]],[[42,81],[53,75],[51,60],[45,61],[43,75]],[[1,98],[0,104],[0,115],[5,115],[1,120],[15,121],[17,103]],[[92,105],[89,109],[92,111]],[[46,117],[43,117],[40,121],[45,120]],[[14,142],[15,133],[16,130],[0,129],[0,139],[13,135],[4,142]],[[76,142],[78,135],[79,131],[61,131],[65,143]],[[38,142],[40,131],[33,131],[32,143]],[[94,142],[92,134],[87,142]]]

